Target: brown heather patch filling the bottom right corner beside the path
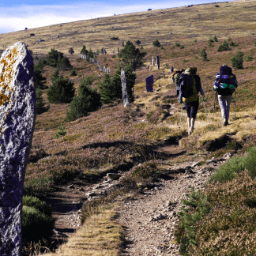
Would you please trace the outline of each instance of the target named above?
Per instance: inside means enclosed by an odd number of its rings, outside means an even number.
[[[256,183],[247,171],[207,188],[211,212],[195,225],[197,245],[188,255],[256,254]]]

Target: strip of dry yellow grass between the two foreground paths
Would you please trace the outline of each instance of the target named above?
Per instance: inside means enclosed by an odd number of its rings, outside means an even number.
[[[115,222],[115,205],[101,207],[90,216],[69,241],[55,254],[45,256],[118,256],[121,251],[122,227]]]

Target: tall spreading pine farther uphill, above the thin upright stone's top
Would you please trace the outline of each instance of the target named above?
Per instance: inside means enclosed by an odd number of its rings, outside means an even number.
[[[126,65],[131,64],[134,70],[143,64],[143,58],[147,55],[145,51],[140,51],[136,48],[134,43],[127,41],[124,48],[119,51],[119,58],[122,58],[122,62]]]

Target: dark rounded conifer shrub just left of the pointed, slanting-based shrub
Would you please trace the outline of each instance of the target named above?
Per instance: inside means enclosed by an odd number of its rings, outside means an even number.
[[[47,91],[48,100],[51,104],[70,103],[73,99],[75,88],[73,82],[62,75],[56,77]]]

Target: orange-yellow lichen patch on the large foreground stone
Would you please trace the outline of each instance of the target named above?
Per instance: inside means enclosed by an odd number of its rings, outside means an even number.
[[[12,91],[9,88],[9,83],[13,78],[13,66],[17,58],[17,48],[10,50],[9,55],[5,58],[2,58],[0,65],[2,66],[2,73],[0,75],[0,105],[8,104],[10,99],[10,92]]]

